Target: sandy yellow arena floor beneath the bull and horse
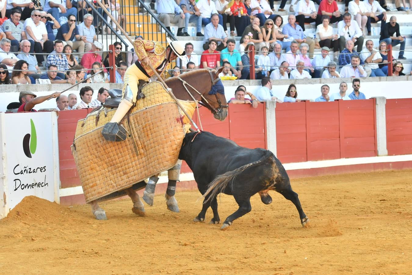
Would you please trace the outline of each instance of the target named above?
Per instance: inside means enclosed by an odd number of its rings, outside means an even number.
[[[26,197],[0,221],[1,274],[411,274],[412,170],[295,179],[311,223],[271,192],[225,231],[193,223],[200,193],[178,192],[180,213],[162,195],[147,216],[131,201],[104,202],[109,220],[88,205],[61,207]],[[222,195],[222,221],[237,209]]]

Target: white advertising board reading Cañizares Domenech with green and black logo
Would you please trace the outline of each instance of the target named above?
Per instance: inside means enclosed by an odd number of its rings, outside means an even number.
[[[55,112],[0,113],[4,218],[26,196],[59,203],[59,145]]]

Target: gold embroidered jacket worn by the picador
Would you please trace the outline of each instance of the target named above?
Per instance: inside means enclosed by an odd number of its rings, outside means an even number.
[[[150,77],[155,74],[149,66],[140,62],[140,60],[147,56],[149,57],[150,64],[157,70],[160,77],[165,80],[164,72],[171,68],[171,64],[166,61],[166,65],[163,68],[157,69],[166,59],[166,48],[163,47],[162,43],[151,40],[134,40],[133,46],[138,57],[136,62],[140,63],[146,73]]]

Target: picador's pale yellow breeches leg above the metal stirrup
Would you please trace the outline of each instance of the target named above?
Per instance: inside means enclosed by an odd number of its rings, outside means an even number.
[[[136,103],[139,92],[139,80],[149,80],[149,78],[139,70],[136,64],[133,64],[126,70],[123,79],[124,86],[122,91],[122,101],[120,101],[119,107],[117,107],[117,110],[110,122],[120,123],[126,113],[133,106],[133,103]]]

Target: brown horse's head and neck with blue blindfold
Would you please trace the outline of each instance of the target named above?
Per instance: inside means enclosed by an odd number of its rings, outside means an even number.
[[[225,88],[218,77],[222,69],[212,71],[199,69],[183,73],[178,78],[166,80],[166,84],[173,89],[178,99],[192,100],[188,94],[190,93],[200,105],[211,110],[214,118],[223,121],[227,117],[229,106],[226,102]],[[181,88],[182,83],[184,89]]]

